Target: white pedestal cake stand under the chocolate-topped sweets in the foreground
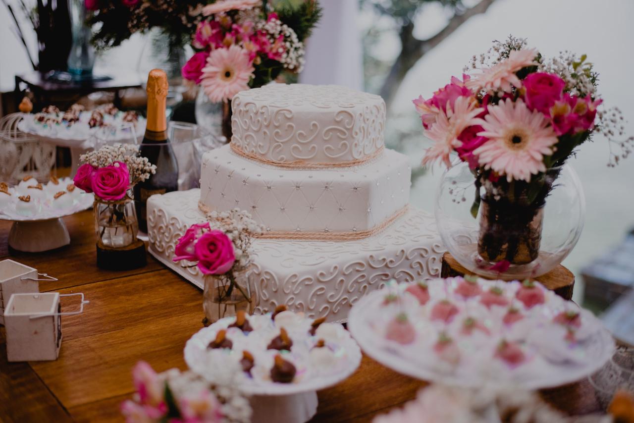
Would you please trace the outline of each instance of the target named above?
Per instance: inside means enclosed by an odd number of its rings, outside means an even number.
[[[204,372],[204,363],[200,356],[204,355],[207,345],[214,338],[219,327],[226,327],[226,322],[233,322],[235,317],[227,317],[198,330],[185,344],[184,358],[193,372]],[[310,420],[317,412],[317,391],[334,386],[353,374],[361,363],[361,349],[345,331],[341,341],[346,349],[348,360],[340,372],[302,379],[298,383],[255,382],[245,379],[240,388],[251,397],[253,423],[303,423]]]

